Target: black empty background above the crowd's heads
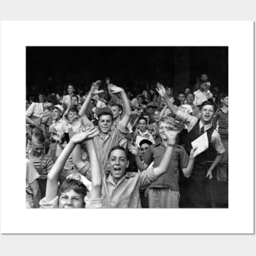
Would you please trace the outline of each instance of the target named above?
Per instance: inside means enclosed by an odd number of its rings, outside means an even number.
[[[62,92],[68,84],[88,91],[93,81],[110,77],[132,92],[193,86],[201,73],[213,86],[228,89],[228,47],[27,47],[27,95]]]

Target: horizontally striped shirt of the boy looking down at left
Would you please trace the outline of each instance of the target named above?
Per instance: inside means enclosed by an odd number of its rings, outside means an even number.
[[[30,159],[34,168],[40,175],[39,178],[47,178],[47,174],[50,172],[53,161],[51,155],[41,155],[41,156],[33,156],[31,155],[31,150],[27,153],[27,159]]]

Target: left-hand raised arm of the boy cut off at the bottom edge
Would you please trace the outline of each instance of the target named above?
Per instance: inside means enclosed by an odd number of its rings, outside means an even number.
[[[46,202],[53,200],[58,193],[58,179],[61,174],[62,169],[65,166],[66,160],[69,158],[70,153],[74,150],[76,144],[82,141],[92,138],[98,134],[97,128],[86,128],[84,132],[79,132],[74,134],[70,139],[70,142],[65,146],[61,155],[56,159],[56,163],[53,165],[50,173],[47,175],[47,190],[46,190]]]

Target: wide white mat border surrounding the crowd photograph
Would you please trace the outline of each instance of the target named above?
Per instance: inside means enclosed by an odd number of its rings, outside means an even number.
[[[26,46],[228,46],[229,209],[25,209]],[[1,231],[253,233],[253,110],[252,21],[2,21]]]

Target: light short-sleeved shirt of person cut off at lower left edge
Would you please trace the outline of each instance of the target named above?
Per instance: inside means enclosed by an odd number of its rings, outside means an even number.
[[[29,203],[30,207],[33,208],[34,205],[34,197],[33,191],[31,189],[31,184],[35,182],[39,174],[34,168],[34,164],[31,160],[26,159],[27,170],[26,170],[26,202]]]

